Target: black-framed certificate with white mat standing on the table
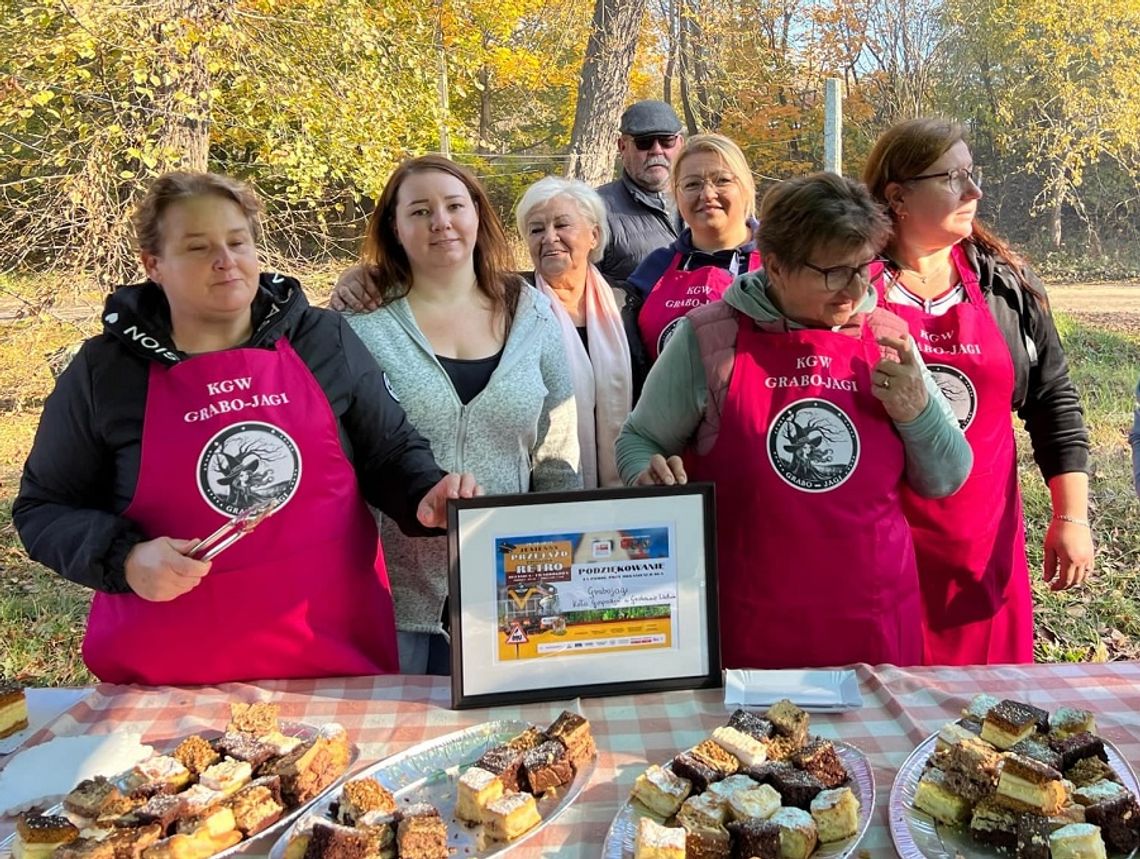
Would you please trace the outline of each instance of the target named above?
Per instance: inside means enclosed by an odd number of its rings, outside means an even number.
[[[451,706],[720,685],[712,484],[448,504]]]

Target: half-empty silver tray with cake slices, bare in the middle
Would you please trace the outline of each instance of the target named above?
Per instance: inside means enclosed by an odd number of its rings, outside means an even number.
[[[357,774],[277,840],[269,859],[448,859],[514,848],[589,782],[589,721],[546,728],[484,722],[421,743]]]

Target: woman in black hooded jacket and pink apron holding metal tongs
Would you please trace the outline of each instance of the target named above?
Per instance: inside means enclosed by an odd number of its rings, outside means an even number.
[[[366,500],[429,534],[477,491],[439,469],[341,318],[260,272],[256,212],[226,177],[158,179],[136,213],[148,280],[108,297],[44,404],[13,517],[32,558],[95,590],[83,656],[101,680],[394,671]]]

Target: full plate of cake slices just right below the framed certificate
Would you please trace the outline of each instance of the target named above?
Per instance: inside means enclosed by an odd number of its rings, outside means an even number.
[[[618,810],[604,859],[782,857],[855,851],[874,810],[871,763],[855,746],[814,737],[811,717],[775,702],[651,764]]]

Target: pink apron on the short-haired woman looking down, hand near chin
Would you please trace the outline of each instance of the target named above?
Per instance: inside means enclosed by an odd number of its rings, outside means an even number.
[[[871,393],[879,347],[742,320],[720,429],[685,458],[716,483],[725,668],[918,664],[903,442]]]

